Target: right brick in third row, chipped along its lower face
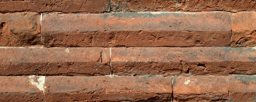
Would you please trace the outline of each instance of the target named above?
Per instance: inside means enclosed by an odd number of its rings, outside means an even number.
[[[115,75],[256,74],[256,48],[111,48]]]

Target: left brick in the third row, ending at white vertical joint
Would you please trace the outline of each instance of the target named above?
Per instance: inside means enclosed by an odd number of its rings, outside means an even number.
[[[109,75],[109,48],[0,48],[0,75]]]

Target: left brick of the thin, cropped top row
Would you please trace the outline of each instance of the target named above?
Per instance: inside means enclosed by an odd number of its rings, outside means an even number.
[[[0,12],[104,12],[108,0],[1,0]]]

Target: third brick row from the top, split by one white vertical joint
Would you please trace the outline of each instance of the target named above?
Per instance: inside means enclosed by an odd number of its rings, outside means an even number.
[[[255,47],[0,48],[0,75],[253,75],[255,51]]]

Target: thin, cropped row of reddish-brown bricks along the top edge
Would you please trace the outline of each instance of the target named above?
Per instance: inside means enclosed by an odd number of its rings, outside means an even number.
[[[0,12],[255,11],[254,0],[1,0]],[[110,7],[111,6],[111,7]],[[112,8],[112,9],[111,9]]]

